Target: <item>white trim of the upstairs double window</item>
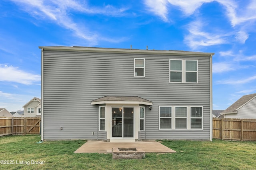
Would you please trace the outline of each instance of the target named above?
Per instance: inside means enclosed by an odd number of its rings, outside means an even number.
[[[181,71],[171,70],[171,61],[181,61]],[[197,71],[186,71],[186,61],[196,61]],[[171,71],[181,72],[181,82],[171,82]],[[186,72],[196,72],[196,82],[186,82]],[[170,59],[169,60],[169,83],[193,83],[198,84],[198,60],[181,60],[181,59]]]

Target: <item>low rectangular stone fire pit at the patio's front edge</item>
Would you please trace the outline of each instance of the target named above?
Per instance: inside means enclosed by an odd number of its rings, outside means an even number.
[[[113,148],[113,159],[143,159],[145,158],[144,150],[140,148]]]

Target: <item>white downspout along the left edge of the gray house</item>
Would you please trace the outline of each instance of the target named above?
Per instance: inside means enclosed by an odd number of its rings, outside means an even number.
[[[41,49],[41,141],[44,140],[44,49]]]

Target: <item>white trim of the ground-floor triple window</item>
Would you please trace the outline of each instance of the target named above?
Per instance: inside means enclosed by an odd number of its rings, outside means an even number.
[[[161,117],[161,118],[171,118],[172,119],[172,128],[171,129],[160,129],[160,107],[172,107],[172,117]],[[185,118],[185,117],[176,117],[176,107],[187,107],[187,128],[186,129],[181,129],[181,128],[176,128],[176,118]],[[201,107],[202,108],[202,117],[191,117],[191,107]],[[159,106],[158,108],[158,129],[159,130],[203,130],[204,125],[203,125],[203,106]],[[202,121],[202,128],[198,129],[191,129],[191,118],[192,119],[201,119]]]

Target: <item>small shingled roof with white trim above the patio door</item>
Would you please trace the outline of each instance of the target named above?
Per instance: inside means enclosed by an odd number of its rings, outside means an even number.
[[[91,104],[144,104],[152,106],[153,102],[138,96],[104,96],[102,98],[92,100]]]

